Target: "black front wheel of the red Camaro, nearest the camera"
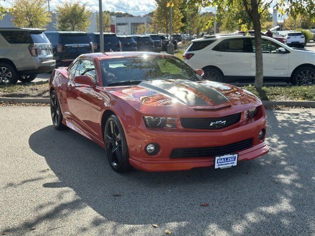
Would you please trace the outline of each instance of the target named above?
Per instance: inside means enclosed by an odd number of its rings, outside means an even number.
[[[119,173],[130,171],[132,166],[129,163],[126,136],[123,126],[115,115],[110,116],[106,121],[104,141],[110,166]]]

